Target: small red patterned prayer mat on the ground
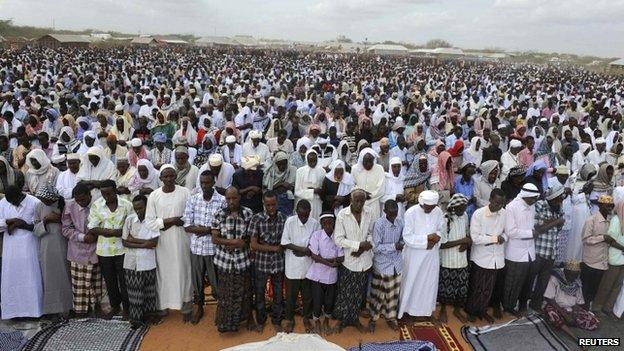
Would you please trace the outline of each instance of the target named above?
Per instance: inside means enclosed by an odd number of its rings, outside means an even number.
[[[419,322],[401,325],[401,340],[431,341],[437,350],[463,351],[462,346],[446,325],[436,326],[431,322]]]

